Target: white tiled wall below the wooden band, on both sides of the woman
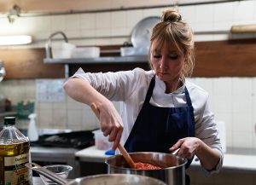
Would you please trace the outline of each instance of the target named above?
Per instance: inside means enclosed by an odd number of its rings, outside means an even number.
[[[217,121],[226,124],[228,147],[256,148],[256,77],[255,78],[189,78],[210,94],[210,107]],[[30,90],[29,93],[27,93]],[[36,100],[34,80],[5,80],[0,94],[10,97],[13,104],[21,100]],[[119,109],[119,103],[113,102]],[[93,130],[99,127],[90,107],[73,101],[66,95],[64,102],[36,101],[39,128]],[[20,127],[27,122],[20,121]]]

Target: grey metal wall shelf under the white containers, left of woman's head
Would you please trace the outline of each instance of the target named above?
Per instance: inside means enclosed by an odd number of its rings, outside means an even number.
[[[44,63],[48,64],[96,64],[96,63],[147,63],[148,55],[133,56],[105,56],[94,58],[44,58]]]

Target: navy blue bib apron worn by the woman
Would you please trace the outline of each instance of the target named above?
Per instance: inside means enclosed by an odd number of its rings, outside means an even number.
[[[185,87],[185,97],[188,106],[155,107],[149,101],[153,94],[155,78],[151,79],[143,107],[137,116],[131,133],[125,142],[129,152],[159,152],[170,153],[179,139],[195,136],[194,108]],[[189,159],[186,168],[191,164]],[[186,184],[189,179],[186,178]]]

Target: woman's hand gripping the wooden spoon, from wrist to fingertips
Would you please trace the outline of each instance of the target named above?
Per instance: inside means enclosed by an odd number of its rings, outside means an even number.
[[[113,142],[112,149],[115,150],[119,146],[119,142],[123,133],[122,119],[113,106],[111,101],[104,101],[97,105],[100,112],[101,129],[104,136],[108,136],[108,141]]]

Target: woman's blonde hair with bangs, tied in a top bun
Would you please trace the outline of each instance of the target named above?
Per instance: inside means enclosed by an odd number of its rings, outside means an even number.
[[[177,10],[169,9],[163,12],[160,23],[153,28],[149,52],[152,43],[155,43],[154,46],[158,49],[165,43],[174,43],[185,57],[182,74],[185,77],[192,75],[195,66],[193,31],[189,24],[182,20]],[[150,57],[149,63],[152,67]]]

